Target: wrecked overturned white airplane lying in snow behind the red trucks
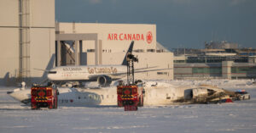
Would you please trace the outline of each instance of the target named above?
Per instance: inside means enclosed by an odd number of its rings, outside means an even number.
[[[170,86],[160,83],[157,86],[144,86],[144,105],[160,106],[187,103],[219,103],[234,97],[234,92],[225,91],[216,86]],[[61,87],[58,89],[59,106],[90,107],[90,106],[117,106],[116,86],[101,89],[81,89]],[[8,94],[21,103],[29,105],[31,89],[17,88]]]

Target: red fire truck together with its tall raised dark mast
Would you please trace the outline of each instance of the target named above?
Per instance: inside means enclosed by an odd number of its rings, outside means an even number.
[[[118,106],[124,107],[125,111],[137,111],[137,107],[143,106],[143,82],[142,80],[134,81],[134,62],[138,62],[137,57],[131,53],[126,55],[127,61],[127,84],[122,80],[117,86]]]

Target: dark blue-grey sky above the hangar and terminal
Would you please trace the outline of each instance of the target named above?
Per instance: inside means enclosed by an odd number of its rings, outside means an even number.
[[[156,24],[166,48],[229,41],[256,48],[256,0],[55,0],[59,22]]]

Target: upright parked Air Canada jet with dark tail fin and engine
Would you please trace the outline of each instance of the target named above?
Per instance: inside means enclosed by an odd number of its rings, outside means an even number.
[[[132,53],[134,42],[131,42],[124,60],[119,65],[79,65],[79,66],[60,66],[50,69],[48,80],[54,82],[67,81],[97,81],[100,86],[109,86],[112,80],[118,80],[125,76],[128,55]]]

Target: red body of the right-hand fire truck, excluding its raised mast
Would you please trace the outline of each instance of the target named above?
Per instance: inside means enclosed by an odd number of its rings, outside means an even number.
[[[137,107],[143,107],[143,84],[117,86],[118,106],[125,107],[125,111],[137,110]]]

